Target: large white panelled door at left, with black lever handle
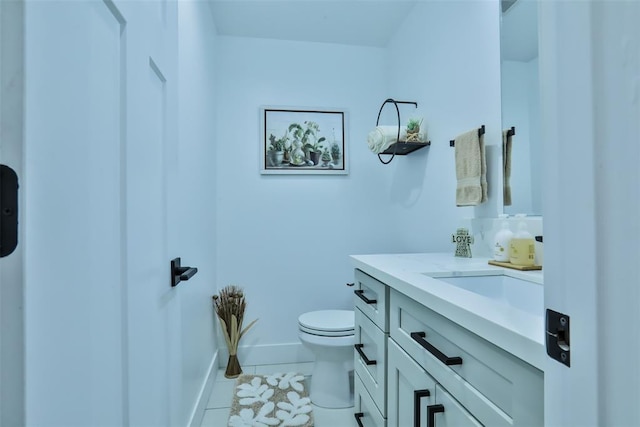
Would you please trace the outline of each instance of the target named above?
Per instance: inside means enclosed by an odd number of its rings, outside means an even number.
[[[26,3],[29,425],[180,424],[175,6]]]

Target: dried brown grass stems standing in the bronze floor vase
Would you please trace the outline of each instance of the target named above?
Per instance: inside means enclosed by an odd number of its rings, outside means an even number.
[[[251,328],[258,319],[249,323],[246,328],[242,329],[242,321],[244,320],[244,310],[247,303],[244,299],[242,288],[236,285],[229,285],[220,291],[220,295],[213,296],[213,305],[216,309],[220,326],[224,334],[224,340],[227,342],[229,355],[238,354],[238,343],[240,338]]]

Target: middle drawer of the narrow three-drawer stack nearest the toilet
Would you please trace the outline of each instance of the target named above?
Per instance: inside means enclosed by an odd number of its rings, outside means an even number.
[[[354,367],[362,384],[386,416],[387,335],[359,309],[355,309]]]

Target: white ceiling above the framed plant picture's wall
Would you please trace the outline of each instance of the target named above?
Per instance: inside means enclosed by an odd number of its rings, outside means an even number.
[[[386,47],[420,0],[210,0],[219,35]]]

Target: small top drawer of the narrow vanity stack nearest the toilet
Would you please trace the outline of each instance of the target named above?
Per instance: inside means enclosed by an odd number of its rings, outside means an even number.
[[[389,287],[357,269],[355,281],[355,306],[383,332],[389,332]]]

